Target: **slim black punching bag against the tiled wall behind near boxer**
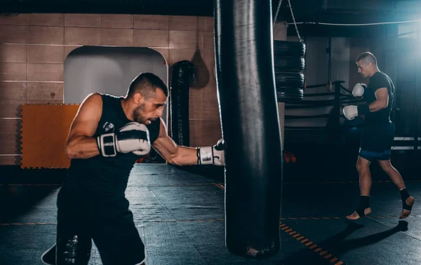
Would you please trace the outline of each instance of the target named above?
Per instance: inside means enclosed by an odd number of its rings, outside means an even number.
[[[194,81],[194,65],[183,60],[173,65],[171,78],[171,138],[178,145],[189,147],[189,88]]]

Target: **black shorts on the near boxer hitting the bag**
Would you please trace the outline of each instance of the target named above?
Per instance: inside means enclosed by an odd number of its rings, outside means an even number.
[[[135,265],[145,261],[145,245],[130,210],[109,215],[80,203],[60,203],[57,264],[68,264],[69,259],[76,259],[76,264],[88,264],[92,240],[104,265]]]

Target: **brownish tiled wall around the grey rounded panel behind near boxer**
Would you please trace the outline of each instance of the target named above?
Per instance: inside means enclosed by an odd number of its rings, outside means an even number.
[[[213,18],[168,15],[21,14],[0,16],[0,144],[20,147],[23,104],[62,104],[65,58],[75,48],[148,46],[165,57],[169,85],[175,62],[191,60],[199,83],[190,89],[192,146],[220,139]],[[199,49],[199,50],[197,50]],[[169,126],[169,125],[168,125]],[[169,128],[171,130],[171,128]],[[4,135],[4,136],[1,136]],[[0,165],[20,164],[20,157],[0,156]]]

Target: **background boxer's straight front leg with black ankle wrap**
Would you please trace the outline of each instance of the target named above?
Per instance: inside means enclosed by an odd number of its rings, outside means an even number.
[[[359,209],[352,213],[352,215],[347,216],[347,218],[350,220],[356,220],[361,217],[360,215],[370,215],[371,213],[371,208],[368,207],[368,200],[370,198],[371,189],[370,163],[370,161],[368,161],[366,158],[362,158],[361,156],[359,156],[358,160],[356,161],[356,170],[359,174],[361,201]],[[360,212],[360,214],[358,212]]]

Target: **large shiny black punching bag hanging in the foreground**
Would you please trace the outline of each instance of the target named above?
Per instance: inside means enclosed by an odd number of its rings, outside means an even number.
[[[269,0],[215,0],[215,60],[225,140],[229,252],[280,249],[282,149]]]

